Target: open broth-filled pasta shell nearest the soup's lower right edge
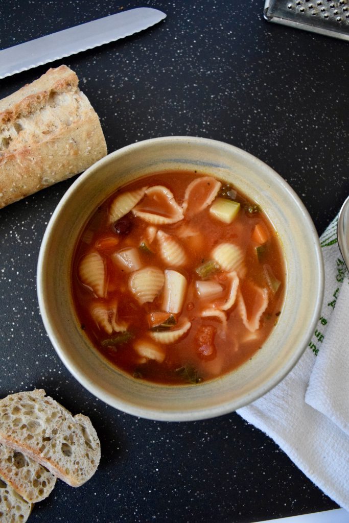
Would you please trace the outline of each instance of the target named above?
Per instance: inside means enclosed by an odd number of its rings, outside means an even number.
[[[244,294],[249,295],[248,301],[244,299]],[[245,280],[238,291],[237,303],[244,326],[250,332],[257,331],[260,328],[261,316],[268,306],[268,290],[257,287],[250,280]]]

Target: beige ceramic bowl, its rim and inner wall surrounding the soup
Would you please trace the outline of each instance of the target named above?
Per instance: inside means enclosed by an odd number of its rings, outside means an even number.
[[[139,381],[112,367],[82,331],[70,269],[77,237],[112,191],[156,171],[197,169],[231,182],[267,212],[284,249],[286,298],[262,350],[238,370],[199,385]],[[55,209],[44,235],[37,288],[44,326],[64,365],[100,400],[150,419],[180,421],[232,412],[272,389],[295,365],[314,331],[323,295],[319,240],[309,214],[285,180],[254,156],[202,138],[168,137],[128,145],[86,170]]]

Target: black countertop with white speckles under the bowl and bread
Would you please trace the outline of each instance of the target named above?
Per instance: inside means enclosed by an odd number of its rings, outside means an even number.
[[[231,143],[282,175],[321,233],[349,194],[347,42],[269,24],[264,0],[7,0],[0,48],[138,6],[167,18],[53,63],[77,73],[109,152],[165,135]],[[48,68],[0,80],[0,98]],[[59,482],[30,521],[239,523],[335,508],[235,413],[181,424],[138,419],[72,378],[44,331],[36,295],[42,235],[72,181],[0,211],[0,396],[44,388],[91,417],[102,444],[94,477],[78,489]]]

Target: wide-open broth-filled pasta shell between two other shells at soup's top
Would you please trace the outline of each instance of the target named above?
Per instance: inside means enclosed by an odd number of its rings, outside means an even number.
[[[178,205],[170,189],[163,185],[154,185],[147,189],[143,201],[132,212],[154,225],[176,223],[183,219],[182,207]]]

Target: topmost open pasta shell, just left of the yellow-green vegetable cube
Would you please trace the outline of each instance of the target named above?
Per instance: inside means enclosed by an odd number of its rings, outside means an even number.
[[[186,218],[206,209],[216,198],[221,188],[220,181],[211,176],[202,176],[193,180],[186,188],[182,204]]]

